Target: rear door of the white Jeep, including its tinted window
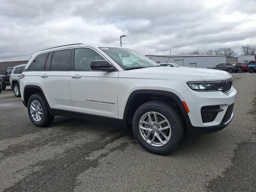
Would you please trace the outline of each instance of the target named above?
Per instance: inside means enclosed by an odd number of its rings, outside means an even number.
[[[73,111],[68,83],[70,59],[71,49],[50,52],[39,74],[37,84],[51,108]]]

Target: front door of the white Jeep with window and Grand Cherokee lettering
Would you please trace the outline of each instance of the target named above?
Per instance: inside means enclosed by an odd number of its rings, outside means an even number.
[[[90,62],[105,59],[91,48],[72,51],[69,88],[74,112],[118,118],[118,71],[92,71]]]

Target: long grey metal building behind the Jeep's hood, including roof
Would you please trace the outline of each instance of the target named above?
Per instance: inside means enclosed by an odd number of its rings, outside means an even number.
[[[226,63],[222,55],[146,55],[156,63],[176,63],[184,67],[206,68]]]

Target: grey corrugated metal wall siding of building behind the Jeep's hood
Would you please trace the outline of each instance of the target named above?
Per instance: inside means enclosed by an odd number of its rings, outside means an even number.
[[[197,68],[206,68],[216,66],[219,63],[226,63],[225,56],[198,56],[198,57],[161,57],[161,56],[147,56],[155,62],[159,63],[175,63],[175,60],[184,60],[184,67],[189,67],[193,63]]]

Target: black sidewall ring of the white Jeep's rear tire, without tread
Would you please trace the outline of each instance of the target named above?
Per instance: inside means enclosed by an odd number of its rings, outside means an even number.
[[[40,103],[41,107],[42,107],[42,119],[40,121],[35,121],[30,113],[30,104],[33,100],[36,100]],[[45,102],[42,101],[42,99],[40,97],[38,97],[37,94],[35,95],[32,95],[30,98],[29,98],[29,101],[28,101],[28,113],[29,113],[29,118],[30,120],[32,121],[32,123],[34,123],[36,126],[43,126],[44,122],[47,120],[47,116],[46,116],[46,113],[47,113],[47,106],[45,105]]]

